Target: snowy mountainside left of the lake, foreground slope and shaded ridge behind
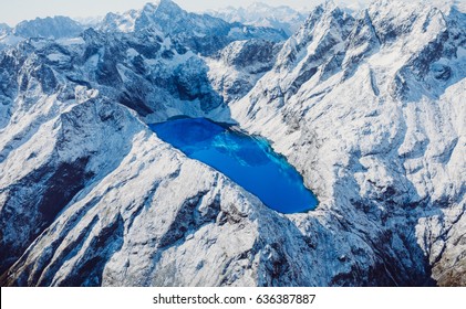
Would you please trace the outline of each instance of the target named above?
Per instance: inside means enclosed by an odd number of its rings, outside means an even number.
[[[220,119],[201,58],[159,33],[87,30],[0,64],[2,285],[309,284],[289,220],[139,120]]]

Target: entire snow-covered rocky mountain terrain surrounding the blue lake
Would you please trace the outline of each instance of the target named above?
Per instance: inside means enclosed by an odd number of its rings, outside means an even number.
[[[209,50],[230,23],[159,6],[0,52],[2,286],[466,285],[464,11],[329,2]],[[188,159],[147,126],[174,116],[268,138],[318,207]]]

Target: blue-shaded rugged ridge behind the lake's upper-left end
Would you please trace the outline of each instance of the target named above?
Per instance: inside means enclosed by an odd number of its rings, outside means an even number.
[[[6,65],[1,68],[8,78],[3,84],[18,83],[21,90],[28,90],[37,87],[31,84],[31,76],[39,77],[42,92],[52,95],[60,90],[63,98],[71,99],[75,90],[69,85],[81,85],[126,105],[147,122],[221,111],[224,98],[209,83],[205,60],[162,35],[152,31],[125,34],[89,29],[77,39],[28,41],[15,51],[6,52]],[[11,53],[19,53],[20,57]],[[18,66],[22,57],[28,61]],[[8,115],[18,94],[14,87],[6,87],[4,92],[0,98],[6,102],[2,110]],[[3,118],[0,128],[7,121]]]

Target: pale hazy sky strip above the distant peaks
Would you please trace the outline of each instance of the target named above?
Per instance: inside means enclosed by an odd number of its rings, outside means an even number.
[[[187,11],[205,11],[227,6],[247,6],[258,0],[174,0]],[[312,6],[320,0],[262,0],[271,6],[287,4],[294,8]],[[95,17],[107,12],[139,9],[151,0],[0,0],[0,23],[14,25],[37,17]]]

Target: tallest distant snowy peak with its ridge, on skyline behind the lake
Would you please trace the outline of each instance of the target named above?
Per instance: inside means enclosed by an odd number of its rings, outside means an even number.
[[[170,0],[147,3],[142,10],[131,10],[122,15],[108,13],[100,26],[104,32],[125,33],[145,29],[156,29],[203,55],[211,55],[238,40],[280,42],[287,38],[286,33],[272,28],[228,23],[207,14],[188,13]]]

